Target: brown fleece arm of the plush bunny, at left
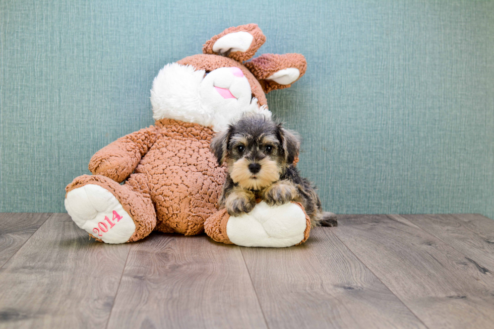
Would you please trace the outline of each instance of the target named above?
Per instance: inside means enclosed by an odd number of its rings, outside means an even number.
[[[89,170],[93,175],[103,175],[120,183],[136,169],[157,136],[155,126],[123,136],[96,152],[89,161]]]

